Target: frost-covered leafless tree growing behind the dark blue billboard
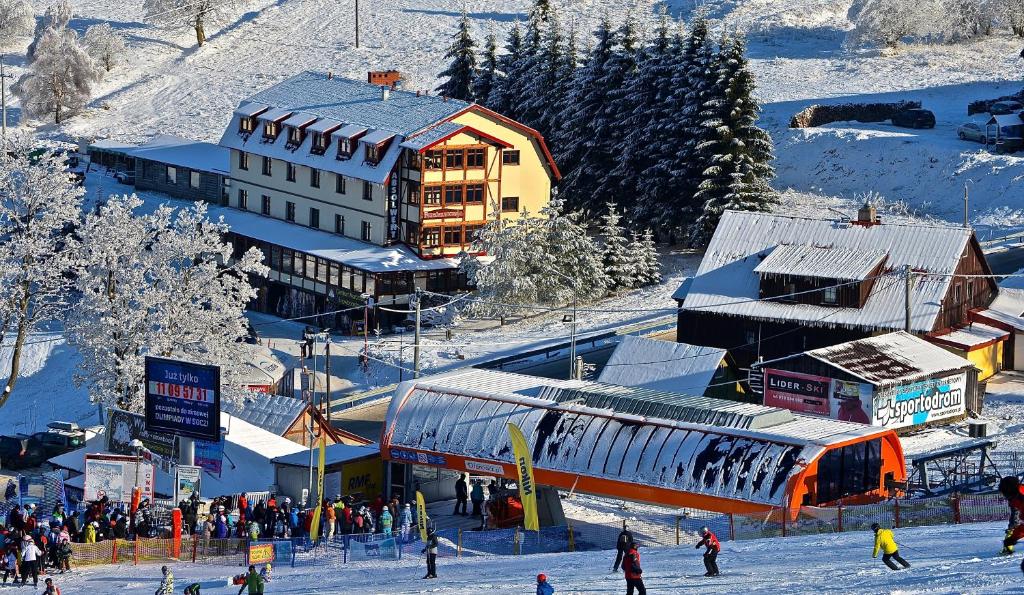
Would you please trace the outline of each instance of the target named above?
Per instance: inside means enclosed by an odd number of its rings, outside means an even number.
[[[184,357],[220,366],[224,397],[238,402],[236,363],[251,356],[243,311],[256,295],[248,275],[266,273],[262,255],[231,262],[224,226],[202,204],[136,214],[141,205],[112,197],[76,233],[81,299],[67,324],[83,357],[76,382],[98,403],[140,412],[145,355]]]

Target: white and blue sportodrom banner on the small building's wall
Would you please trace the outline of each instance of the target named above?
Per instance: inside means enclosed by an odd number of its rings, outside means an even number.
[[[954,374],[896,386],[874,396],[872,425],[915,426],[964,415],[967,375]]]

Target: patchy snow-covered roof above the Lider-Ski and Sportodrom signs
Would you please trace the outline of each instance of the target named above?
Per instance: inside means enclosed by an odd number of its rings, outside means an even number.
[[[974,366],[970,359],[903,331],[812,349],[806,353],[876,385],[900,384]],[[764,366],[770,368],[771,362]]]

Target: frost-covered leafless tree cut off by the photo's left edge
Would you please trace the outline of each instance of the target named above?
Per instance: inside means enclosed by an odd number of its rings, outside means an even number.
[[[63,158],[30,158],[35,148],[29,136],[15,136],[0,152],[0,337],[11,346],[0,407],[17,383],[26,339],[68,307],[77,258],[67,231],[79,220],[85,190]]]

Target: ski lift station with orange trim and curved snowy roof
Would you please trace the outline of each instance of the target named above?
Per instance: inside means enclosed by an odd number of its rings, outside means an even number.
[[[802,505],[883,500],[906,481],[891,429],[489,370],[399,384],[381,452],[408,465],[407,488],[454,498],[444,487],[459,472],[515,479],[509,423],[529,442],[538,484],[670,507],[795,515]]]

